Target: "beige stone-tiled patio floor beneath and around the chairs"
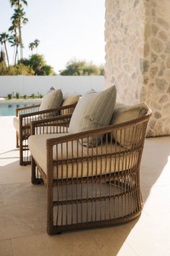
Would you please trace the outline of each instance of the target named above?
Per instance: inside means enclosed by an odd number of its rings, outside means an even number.
[[[12,117],[0,123],[0,256],[170,255],[170,136],[145,141],[140,218],[48,236],[45,186],[33,186],[30,165],[19,165]]]

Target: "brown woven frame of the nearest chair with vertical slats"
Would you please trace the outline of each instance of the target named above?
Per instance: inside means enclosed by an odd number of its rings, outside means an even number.
[[[91,131],[83,131],[81,133],[75,133],[75,134],[64,134],[62,137],[54,138],[54,139],[47,139],[46,140],[46,157],[47,157],[47,173],[44,172],[41,168],[41,163],[38,163],[35,161],[35,159],[32,157],[32,183],[38,184],[38,183],[45,183],[46,189],[47,189],[47,232],[48,234],[59,234],[63,231],[72,231],[72,230],[78,230],[82,228],[93,228],[93,227],[101,227],[101,226],[111,226],[119,223],[124,223],[129,220],[132,220],[134,218],[137,218],[137,216],[140,215],[142,209],[143,209],[143,198],[140,191],[140,162],[143,154],[143,146],[145,142],[145,133],[146,128],[148,124],[148,120],[151,115],[151,110],[148,111],[148,114],[144,117],[139,117],[135,120],[121,123],[118,125],[109,125],[103,128],[94,129]],[[42,125],[51,125],[55,124],[57,125],[57,122],[60,122],[60,125],[69,125],[69,121],[72,115],[64,115],[60,117],[51,117],[46,120],[37,120],[31,122],[31,134],[36,134],[36,128],[38,126]],[[86,176],[83,177],[81,174],[81,177],[77,175],[77,177],[72,176],[72,178],[56,178],[54,179],[54,166],[57,167],[59,165],[68,165],[70,162],[70,159],[68,157],[67,160],[54,160],[53,152],[54,147],[57,148],[57,146],[62,145],[64,143],[68,143],[69,141],[79,141],[82,139],[89,139],[90,137],[95,136],[101,136],[101,140],[103,136],[105,135],[106,138],[109,138],[109,134],[113,134],[113,132],[116,134],[122,134],[123,132],[127,132],[128,129],[132,129],[131,131],[134,131],[134,134],[132,136],[132,139],[135,141],[129,149],[125,149],[123,151],[119,151],[120,145],[116,144],[116,151],[114,152],[108,152],[107,154],[99,154],[98,158],[102,159],[102,157],[116,157],[116,161],[120,161],[120,157],[123,157],[123,161],[125,161],[128,156],[128,154],[136,154],[137,155],[137,163],[132,168],[128,168],[126,170],[116,170],[114,172],[110,173],[101,173],[101,175],[93,175],[93,176]],[[138,130],[139,129],[139,130]],[[140,139],[137,140],[137,131],[140,131]],[[106,139],[107,140],[107,139]],[[111,139],[112,141],[112,139]],[[116,141],[116,139],[115,139]],[[103,142],[101,142],[102,145]],[[75,150],[75,149],[72,149]],[[57,152],[57,150],[56,150]],[[56,154],[57,155],[57,154]],[[93,158],[95,156],[89,156],[89,157],[77,157],[77,159],[72,159],[72,162],[89,162],[93,161]],[[77,173],[80,172],[80,170],[77,170]],[[116,186],[120,189],[120,192],[117,192],[117,194],[111,194],[109,191],[109,194],[105,194],[105,196],[101,196],[95,194],[93,197],[85,197],[85,198],[78,198],[76,195],[76,198],[68,199],[59,197],[57,199],[54,199],[54,188],[56,188],[57,191],[64,186],[66,188],[68,186],[86,186],[88,191],[88,186],[91,184],[91,186],[96,186],[99,184],[99,186]],[[58,192],[57,192],[58,193]],[[81,194],[82,195],[82,194]],[[111,215],[106,216],[106,207],[105,207],[105,215],[103,218],[100,217],[100,219],[96,218],[93,219],[93,217],[89,217],[88,211],[86,212],[86,221],[82,220],[82,212],[81,212],[81,220],[78,219],[74,220],[74,216],[72,217],[71,223],[68,222],[67,216],[64,213],[63,209],[67,209],[67,207],[72,207],[72,209],[75,209],[74,207],[77,207],[76,214],[78,216],[78,212],[80,211],[80,207],[82,207],[83,204],[88,205],[91,204],[92,207],[96,204],[102,204],[103,202],[106,204],[106,202],[109,202],[109,207],[113,207],[116,200],[125,200],[125,202],[130,202],[131,199],[135,200],[135,210],[131,209],[131,206],[128,206],[130,211],[128,214],[122,214],[119,217],[112,217]],[[119,202],[118,202],[119,205]],[[106,206],[106,205],[105,205]],[[57,217],[54,219],[54,207],[57,209]],[[123,207],[122,207],[123,208]],[[79,210],[78,210],[79,209]],[[81,208],[82,209],[82,208]],[[93,211],[93,210],[92,210]],[[95,210],[96,211],[96,210]],[[102,210],[101,210],[102,211]],[[122,210],[123,212],[123,210]],[[67,214],[67,213],[66,213]],[[101,215],[103,213],[100,213]],[[109,213],[110,214],[110,213]],[[88,215],[88,217],[87,217]],[[96,213],[95,213],[96,215]],[[60,225],[57,225],[57,221],[61,220]]]

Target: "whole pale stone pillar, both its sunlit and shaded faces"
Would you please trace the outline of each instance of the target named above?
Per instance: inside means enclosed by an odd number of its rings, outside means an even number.
[[[170,134],[170,1],[106,0],[106,83],[153,110],[148,136]]]

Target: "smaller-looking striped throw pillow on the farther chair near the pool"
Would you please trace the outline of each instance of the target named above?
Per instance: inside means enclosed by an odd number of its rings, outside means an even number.
[[[62,102],[63,102],[63,94],[61,89],[48,91],[43,96],[43,100],[41,102],[41,106],[39,110],[42,111],[42,110],[55,109],[57,107],[60,107]]]

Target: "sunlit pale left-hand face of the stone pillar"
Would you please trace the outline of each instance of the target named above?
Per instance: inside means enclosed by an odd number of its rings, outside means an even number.
[[[142,1],[106,0],[106,83],[116,84],[117,101],[140,102],[143,75],[139,59],[144,51]]]

